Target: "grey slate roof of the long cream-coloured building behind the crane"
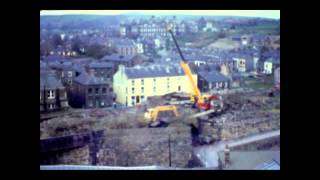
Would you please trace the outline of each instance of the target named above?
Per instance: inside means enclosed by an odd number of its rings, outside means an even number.
[[[181,67],[176,65],[151,65],[151,66],[135,66],[133,68],[125,68],[125,74],[129,79],[147,78],[147,77],[167,77],[167,76],[184,76]],[[193,72],[193,74],[195,74]]]

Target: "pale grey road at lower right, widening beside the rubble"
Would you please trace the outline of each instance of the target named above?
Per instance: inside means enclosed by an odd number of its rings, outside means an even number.
[[[223,151],[226,144],[228,144],[229,147],[231,148],[231,147],[252,143],[255,141],[260,141],[263,139],[277,137],[277,136],[280,136],[280,130],[256,134],[256,135],[252,135],[252,136],[241,138],[241,139],[221,141],[213,145],[195,147],[194,153],[200,159],[200,161],[204,164],[205,167],[217,168],[219,166],[218,152]]]

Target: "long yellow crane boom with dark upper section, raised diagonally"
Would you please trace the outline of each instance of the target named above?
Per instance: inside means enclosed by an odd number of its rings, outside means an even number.
[[[174,44],[176,45],[176,48],[177,48],[177,50],[178,50],[178,52],[180,54],[180,57],[181,57],[181,60],[182,60],[180,62],[180,66],[182,67],[183,72],[187,75],[189,81],[191,82],[192,92],[198,98],[198,100],[202,101],[201,92],[200,92],[198,86],[196,85],[196,83],[195,83],[195,81],[194,81],[194,79],[192,77],[191,69],[190,69],[188,63],[184,59],[184,56],[183,56],[183,54],[182,54],[182,52],[180,50],[180,47],[179,47],[179,45],[177,43],[177,40],[174,37],[173,32],[171,31],[171,29],[168,29],[168,31],[171,34],[171,37],[173,38]]]

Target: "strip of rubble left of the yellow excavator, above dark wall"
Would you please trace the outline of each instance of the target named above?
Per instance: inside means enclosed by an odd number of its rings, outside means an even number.
[[[40,139],[85,133],[97,129],[147,127],[143,109],[81,109],[40,123]]]

